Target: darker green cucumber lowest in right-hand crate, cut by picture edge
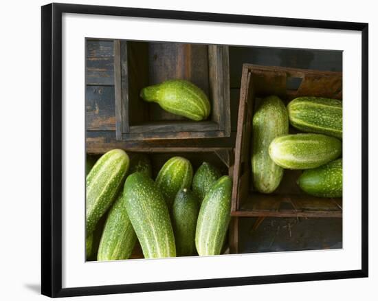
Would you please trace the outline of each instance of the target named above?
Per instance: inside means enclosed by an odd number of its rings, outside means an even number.
[[[298,185],[315,197],[342,197],[342,159],[304,170]]]

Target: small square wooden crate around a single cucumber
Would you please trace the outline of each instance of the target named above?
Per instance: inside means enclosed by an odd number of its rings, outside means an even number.
[[[208,120],[195,122],[145,102],[140,91],[164,80],[190,80],[208,95]],[[114,41],[117,140],[230,137],[228,47],[188,43]]]

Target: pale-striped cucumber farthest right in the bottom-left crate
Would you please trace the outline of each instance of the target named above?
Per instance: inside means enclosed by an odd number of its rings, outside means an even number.
[[[196,248],[200,256],[221,254],[231,214],[232,180],[221,177],[201,204],[196,227]]]

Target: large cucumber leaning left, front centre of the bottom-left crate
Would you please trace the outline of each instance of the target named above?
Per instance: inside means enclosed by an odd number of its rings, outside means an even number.
[[[168,206],[153,179],[135,172],[124,183],[127,215],[145,258],[175,257],[175,236]]]

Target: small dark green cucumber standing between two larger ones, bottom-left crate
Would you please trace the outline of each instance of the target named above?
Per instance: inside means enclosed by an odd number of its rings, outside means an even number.
[[[187,188],[179,190],[172,211],[177,256],[191,256],[196,251],[194,238],[199,212],[197,196]]]

